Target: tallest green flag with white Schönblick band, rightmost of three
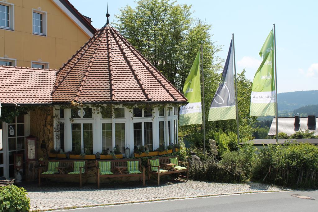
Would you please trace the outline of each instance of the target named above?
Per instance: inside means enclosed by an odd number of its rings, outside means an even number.
[[[251,116],[274,116],[276,90],[274,84],[274,34],[269,33],[259,52],[263,61],[259,66],[252,86]]]

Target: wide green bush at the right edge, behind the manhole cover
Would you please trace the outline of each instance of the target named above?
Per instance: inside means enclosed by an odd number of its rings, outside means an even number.
[[[271,172],[268,170],[271,168]],[[268,145],[252,163],[252,179],[291,187],[316,188],[318,147],[309,143]]]

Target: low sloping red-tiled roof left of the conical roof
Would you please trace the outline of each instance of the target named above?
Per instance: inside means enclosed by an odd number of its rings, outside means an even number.
[[[52,103],[51,92],[56,71],[58,70],[0,65],[1,103]]]

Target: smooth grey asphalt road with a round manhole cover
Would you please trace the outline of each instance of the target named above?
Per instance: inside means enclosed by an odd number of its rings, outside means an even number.
[[[315,200],[291,195],[307,195]],[[318,211],[318,190],[254,193],[77,209],[89,211]]]

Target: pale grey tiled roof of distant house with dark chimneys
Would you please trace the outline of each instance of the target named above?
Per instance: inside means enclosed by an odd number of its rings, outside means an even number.
[[[278,133],[286,133],[292,135],[297,131],[314,132],[314,135],[318,135],[318,118],[316,118],[315,129],[308,129],[308,117],[300,117],[299,126],[294,125],[295,117],[278,117]],[[276,118],[273,118],[271,128],[269,129],[268,135],[276,135]]]

